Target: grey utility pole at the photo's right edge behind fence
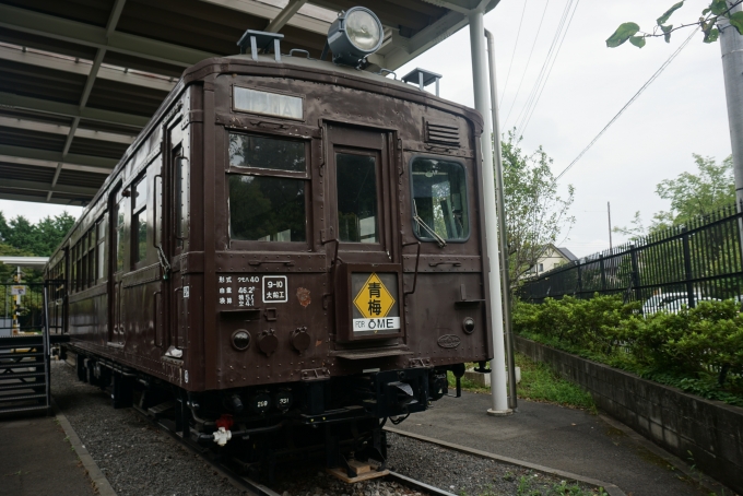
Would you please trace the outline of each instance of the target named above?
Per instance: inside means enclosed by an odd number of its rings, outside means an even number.
[[[731,9],[730,13],[741,10],[743,10],[743,5],[738,4]],[[738,34],[738,31],[730,25],[728,20],[721,20],[719,24],[730,144],[733,152],[735,203],[738,212],[740,212],[741,202],[743,202],[743,36]],[[739,220],[738,226],[741,231],[741,252],[743,253],[743,220]]]

